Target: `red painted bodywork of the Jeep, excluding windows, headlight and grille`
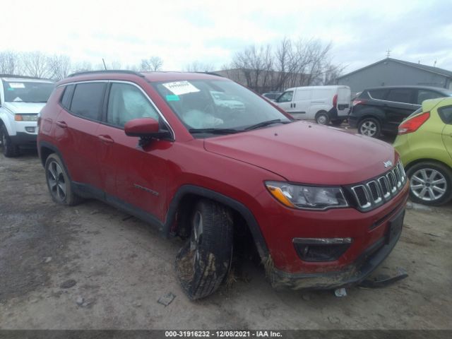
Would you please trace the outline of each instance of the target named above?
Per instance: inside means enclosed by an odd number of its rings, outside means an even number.
[[[377,177],[398,155],[391,145],[352,136],[307,122],[258,129],[228,136],[196,139],[150,82],[212,78],[196,73],[97,74],[97,80],[129,81],[140,86],[174,131],[174,141],[157,140],[144,148],[123,129],[87,121],[59,105],[57,87],[41,113],[38,150],[54,145],[64,158],[73,182],[89,184],[108,196],[152,214],[162,225],[169,206],[184,185],[218,192],[241,203],[256,219],[276,269],[286,273],[336,272],[388,232],[388,220],[405,206],[408,183],[398,195],[369,212],[356,208],[299,210],[287,208],[270,195],[264,182],[348,185]],[[92,75],[57,84],[90,81]],[[227,81],[227,80],[224,80]],[[269,104],[271,105],[271,104]],[[64,122],[61,127],[57,122]],[[294,238],[351,237],[353,242],[336,261],[302,261]]]

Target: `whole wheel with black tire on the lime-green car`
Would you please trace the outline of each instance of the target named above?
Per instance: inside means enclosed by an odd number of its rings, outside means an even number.
[[[413,202],[440,206],[452,199],[452,170],[449,167],[439,162],[418,162],[407,170],[407,176]]]

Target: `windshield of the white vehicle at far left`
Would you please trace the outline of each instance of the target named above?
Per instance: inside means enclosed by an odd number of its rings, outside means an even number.
[[[6,102],[47,102],[53,83],[40,83],[36,81],[3,81]]]

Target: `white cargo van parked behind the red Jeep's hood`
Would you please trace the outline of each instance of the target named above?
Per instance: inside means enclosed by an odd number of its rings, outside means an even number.
[[[340,125],[350,110],[350,87],[344,85],[289,88],[275,101],[295,119]]]

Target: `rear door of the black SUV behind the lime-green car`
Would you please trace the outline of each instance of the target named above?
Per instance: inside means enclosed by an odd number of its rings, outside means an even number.
[[[418,107],[414,105],[416,90],[413,88],[391,88],[383,102],[386,121],[383,129],[397,131],[398,125]]]

